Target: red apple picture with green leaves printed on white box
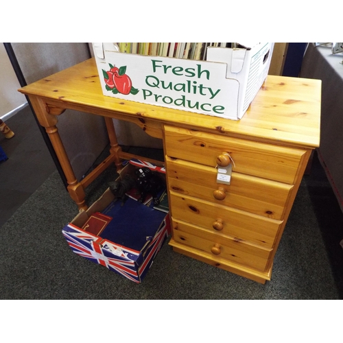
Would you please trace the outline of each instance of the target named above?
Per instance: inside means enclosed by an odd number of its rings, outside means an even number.
[[[104,71],[104,69],[102,69],[106,89],[112,91],[114,94],[121,93],[123,95],[128,95],[131,93],[136,95],[139,90],[132,86],[132,81],[126,74],[126,66],[117,68],[112,64],[109,65],[109,71]]]

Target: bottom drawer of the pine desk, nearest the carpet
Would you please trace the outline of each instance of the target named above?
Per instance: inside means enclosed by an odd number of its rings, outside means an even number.
[[[187,223],[173,226],[173,239],[185,246],[191,246],[228,261],[265,270],[272,249],[258,248],[239,240],[227,239],[215,233],[206,232]]]

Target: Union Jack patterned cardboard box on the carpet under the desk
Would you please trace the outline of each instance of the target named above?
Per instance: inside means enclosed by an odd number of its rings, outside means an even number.
[[[127,171],[132,171],[135,167],[126,165],[121,171],[121,176]],[[119,176],[119,177],[121,177]],[[128,211],[130,206],[134,207],[134,215],[128,213],[126,220],[122,215],[116,218],[109,217],[115,209],[115,204],[121,205],[121,200],[115,199],[110,189],[94,202],[86,211],[80,212],[67,226],[64,226],[62,233],[67,242],[76,254],[85,257],[95,263],[126,276],[126,278],[136,283],[141,283],[147,271],[150,269],[154,258],[163,246],[163,243],[170,234],[169,213],[156,211],[149,206],[145,206],[135,200],[128,199]],[[138,211],[137,211],[138,210]],[[112,211],[112,212],[111,212]],[[143,217],[137,215],[143,213]],[[106,222],[106,217],[112,219],[116,226],[123,225],[119,231],[110,234],[111,239],[100,237],[96,232],[88,232],[85,229],[86,223],[92,217],[100,217]],[[145,216],[149,217],[145,217]],[[124,223],[124,224],[123,224]],[[104,224],[104,227],[108,223]],[[100,225],[100,231],[106,230]],[[104,232],[104,231],[102,231]],[[103,235],[102,235],[103,236]],[[117,237],[117,239],[116,239]]]

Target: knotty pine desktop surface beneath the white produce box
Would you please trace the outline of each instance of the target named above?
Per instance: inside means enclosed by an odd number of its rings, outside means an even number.
[[[125,115],[274,144],[319,146],[320,80],[268,75],[239,121],[104,96],[93,58],[19,91],[29,97],[41,97],[47,104],[58,108],[83,110],[106,117]]]

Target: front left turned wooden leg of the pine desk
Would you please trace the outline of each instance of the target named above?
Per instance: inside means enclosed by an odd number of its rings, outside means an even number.
[[[36,97],[30,97],[30,101],[32,103],[32,106],[34,108],[40,125],[43,126],[47,131],[47,134],[49,134],[51,144],[54,147],[54,150],[58,157],[58,161],[60,161],[60,165],[67,178],[67,189],[69,191],[71,199],[75,201],[79,209],[86,210],[87,206],[86,202],[84,201],[84,198],[86,196],[84,193],[84,188],[82,187],[81,183],[78,182],[74,174],[73,168],[71,167],[69,158],[67,156],[67,152],[65,151],[62,140],[60,139],[58,128],[56,127],[56,124],[58,122],[56,115],[60,115],[64,112],[64,110],[54,108],[54,110],[50,111],[50,109],[47,108],[47,106],[45,106],[43,101]],[[49,112],[52,112],[53,114]]]

